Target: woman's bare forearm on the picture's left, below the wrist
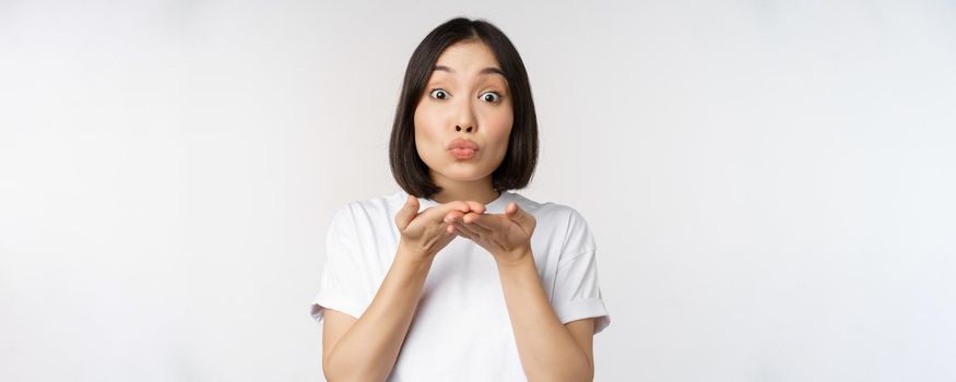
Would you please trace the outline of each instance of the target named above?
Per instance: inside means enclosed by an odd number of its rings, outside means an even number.
[[[365,313],[335,343],[324,366],[330,381],[385,381],[415,314],[432,259],[399,249]]]

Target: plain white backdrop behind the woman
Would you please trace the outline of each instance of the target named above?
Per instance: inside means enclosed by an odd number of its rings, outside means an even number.
[[[598,381],[956,380],[949,1],[0,1],[0,380],[316,381],[408,58],[512,39]]]

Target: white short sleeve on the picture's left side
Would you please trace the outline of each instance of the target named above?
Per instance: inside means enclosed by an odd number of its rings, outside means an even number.
[[[355,224],[349,206],[335,213],[326,235],[326,263],[322,267],[319,293],[312,300],[311,315],[321,323],[326,309],[334,309],[359,318],[368,306],[361,284],[363,267],[356,239]]]

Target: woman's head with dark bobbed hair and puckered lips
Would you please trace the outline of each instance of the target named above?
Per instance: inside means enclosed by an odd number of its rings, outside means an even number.
[[[477,150],[453,148],[474,145]],[[392,126],[392,175],[430,196],[436,179],[491,178],[495,190],[528,186],[538,162],[538,120],[521,57],[498,28],[453,19],[409,60]]]

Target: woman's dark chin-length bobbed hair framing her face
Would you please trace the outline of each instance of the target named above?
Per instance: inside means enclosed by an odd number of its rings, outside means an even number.
[[[480,40],[491,48],[501,65],[512,95],[511,110],[515,118],[508,138],[508,151],[501,164],[492,172],[492,184],[498,192],[522,189],[534,174],[538,163],[538,117],[524,63],[508,37],[496,26],[482,20],[457,17],[438,25],[415,48],[405,69],[399,106],[396,109],[389,141],[389,163],[399,186],[417,198],[429,198],[441,191],[441,188],[432,181],[428,166],[415,150],[415,108],[438,56],[445,48],[471,39]]]

